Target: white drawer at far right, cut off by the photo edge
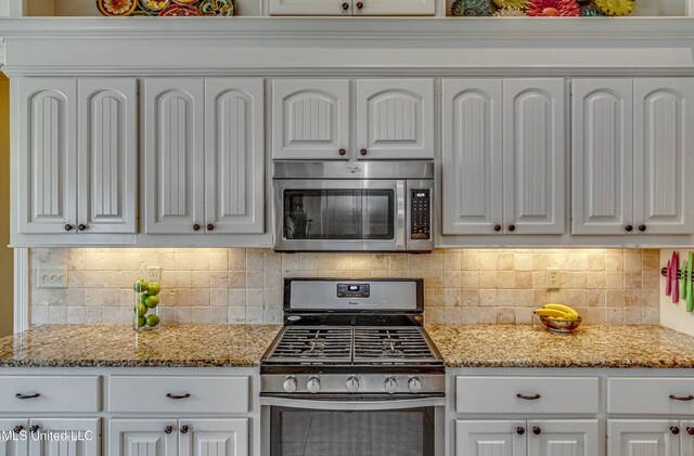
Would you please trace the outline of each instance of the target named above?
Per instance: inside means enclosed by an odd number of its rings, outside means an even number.
[[[609,378],[607,413],[694,415],[694,378]]]

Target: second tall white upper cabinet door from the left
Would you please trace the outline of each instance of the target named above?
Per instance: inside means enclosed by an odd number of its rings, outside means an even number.
[[[78,223],[88,233],[134,233],[137,81],[80,79]]]

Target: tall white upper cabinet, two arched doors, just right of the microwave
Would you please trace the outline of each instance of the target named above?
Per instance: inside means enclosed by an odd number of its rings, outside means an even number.
[[[561,234],[563,79],[442,82],[444,234]]]

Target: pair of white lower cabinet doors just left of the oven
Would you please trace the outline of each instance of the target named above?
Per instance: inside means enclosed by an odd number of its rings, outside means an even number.
[[[108,456],[247,456],[248,419],[111,419]]]

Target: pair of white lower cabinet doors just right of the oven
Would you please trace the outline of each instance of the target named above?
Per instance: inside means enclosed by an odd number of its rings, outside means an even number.
[[[457,420],[457,456],[596,456],[596,419]]]

